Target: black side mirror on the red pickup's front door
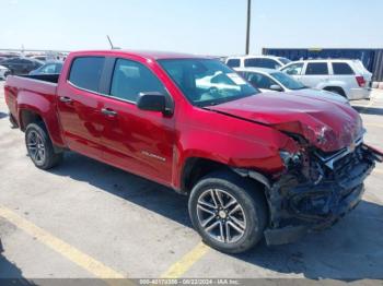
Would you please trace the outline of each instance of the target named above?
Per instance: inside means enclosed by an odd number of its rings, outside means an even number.
[[[137,107],[142,110],[163,112],[164,115],[172,114],[172,108],[166,105],[166,96],[158,92],[140,93]]]

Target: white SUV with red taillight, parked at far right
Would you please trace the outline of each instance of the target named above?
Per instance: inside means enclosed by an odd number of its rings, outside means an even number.
[[[360,60],[302,60],[290,62],[280,71],[302,84],[340,94],[348,99],[369,99],[372,73]]]

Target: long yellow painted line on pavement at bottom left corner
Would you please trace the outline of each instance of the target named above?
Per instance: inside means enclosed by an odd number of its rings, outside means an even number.
[[[30,236],[35,237],[38,241],[51,248],[56,252],[60,253],[62,257],[76,263],[80,267],[92,273],[94,276],[100,278],[124,278],[124,275],[121,275],[120,273],[104,265],[100,261],[81,252],[79,249],[50,235],[48,231],[32,224],[31,222],[21,217],[16,213],[1,205],[0,205],[0,216],[2,216],[7,221],[15,225],[18,228],[22,229]]]

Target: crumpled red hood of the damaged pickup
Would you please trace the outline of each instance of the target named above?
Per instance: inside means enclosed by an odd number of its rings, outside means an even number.
[[[363,132],[350,106],[292,93],[260,93],[207,109],[300,134],[323,152],[349,146]]]

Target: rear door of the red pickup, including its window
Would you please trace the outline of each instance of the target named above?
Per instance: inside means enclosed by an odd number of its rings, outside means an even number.
[[[67,145],[94,158],[102,156],[104,116],[100,82],[104,64],[104,57],[74,58],[58,88],[58,114]]]

